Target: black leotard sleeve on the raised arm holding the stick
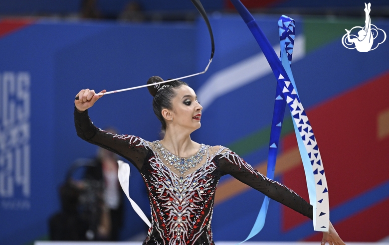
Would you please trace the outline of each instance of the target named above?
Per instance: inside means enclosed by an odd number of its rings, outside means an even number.
[[[148,141],[134,135],[113,134],[96,127],[88,116],[88,110],[79,113],[74,109],[74,125],[77,135],[83,140],[124,157],[138,170],[142,168],[150,149]]]

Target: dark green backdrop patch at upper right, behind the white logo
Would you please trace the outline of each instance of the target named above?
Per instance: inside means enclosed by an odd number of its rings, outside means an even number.
[[[324,46],[327,43],[341,38],[346,34],[345,29],[350,30],[354,26],[365,26],[363,9],[361,18],[338,18],[338,17],[307,17],[304,18],[304,35],[307,53]]]

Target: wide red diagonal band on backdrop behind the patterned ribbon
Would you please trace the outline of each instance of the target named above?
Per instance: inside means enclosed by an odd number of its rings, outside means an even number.
[[[388,81],[389,72],[307,112],[326,170],[330,207],[389,180],[389,136],[378,136],[379,116],[389,110]],[[284,137],[282,145],[283,150],[296,147],[294,133]],[[282,178],[282,183],[308,200],[302,163]],[[284,231],[306,221],[286,207],[282,213]],[[370,227],[365,229],[373,232]],[[353,229],[347,236],[351,234]]]

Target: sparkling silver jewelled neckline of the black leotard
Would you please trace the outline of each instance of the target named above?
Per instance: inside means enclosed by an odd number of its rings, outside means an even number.
[[[172,171],[172,173],[176,175],[184,175],[184,173],[189,172],[191,168],[193,169],[192,173],[196,172],[198,169],[201,168],[203,164],[197,169],[194,168],[196,168],[198,164],[203,160],[203,158],[206,157],[207,145],[205,144],[201,144],[200,148],[194,155],[189,157],[181,157],[173,154],[168,149],[166,149],[165,146],[160,142],[160,140],[153,141],[153,143],[156,146],[156,149],[159,151],[158,154],[161,154],[160,160],[162,162],[163,160],[165,160],[167,162],[166,166],[169,169],[173,167],[176,171],[178,171],[178,174]],[[189,173],[188,175],[192,173]]]

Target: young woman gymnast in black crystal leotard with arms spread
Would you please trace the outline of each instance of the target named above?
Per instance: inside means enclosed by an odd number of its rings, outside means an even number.
[[[160,81],[155,76],[147,83]],[[226,147],[191,139],[201,125],[202,107],[188,84],[173,81],[148,88],[165,132],[162,140],[154,142],[95,127],[87,109],[101,96],[93,90],[81,90],[74,102],[78,136],[123,156],[145,181],[152,227],[144,245],[214,245],[210,229],[214,194],[220,177],[226,174],[312,219],[312,206],[286,186],[266,178]],[[331,223],[322,244],[326,241],[344,244]]]

